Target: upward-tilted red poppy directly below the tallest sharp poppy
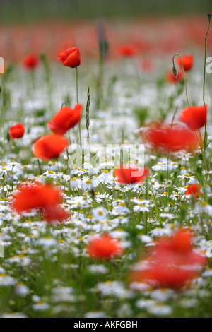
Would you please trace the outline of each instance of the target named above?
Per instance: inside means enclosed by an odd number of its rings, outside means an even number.
[[[66,134],[66,131],[73,128],[78,124],[81,119],[83,111],[83,105],[76,105],[74,109],[70,107],[63,107],[57,114],[54,115],[53,119],[49,121],[48,126],[54,134]]]

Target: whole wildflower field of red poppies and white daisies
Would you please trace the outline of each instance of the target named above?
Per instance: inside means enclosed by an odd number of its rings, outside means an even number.
[[[2,318],[211,317],[210,23],[0,26]]]

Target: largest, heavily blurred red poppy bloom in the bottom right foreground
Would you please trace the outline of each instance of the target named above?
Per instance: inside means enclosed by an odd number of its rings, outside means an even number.
[[[180,289],[199,275],[206,266],[206,256],[192,246],[192,232],[179,229],[170,238],[159,239],[145,260],[131,273],[131,282],[152,287]]]

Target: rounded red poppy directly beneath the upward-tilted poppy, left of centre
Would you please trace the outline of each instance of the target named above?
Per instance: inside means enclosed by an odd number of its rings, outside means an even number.
[[[56,134],[47,134],[33,144],[35,157],[43,160],[59,158],[60,153],[69,145],[67,138]]]

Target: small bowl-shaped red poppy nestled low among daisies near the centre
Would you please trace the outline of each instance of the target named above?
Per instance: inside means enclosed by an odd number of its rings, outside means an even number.
[[[143,170],[136,167],[121,166],[114,170],[115,177],[118,182],[122,184],[134,184],[143,181],[148,176],[149,171],[144,168]]]

